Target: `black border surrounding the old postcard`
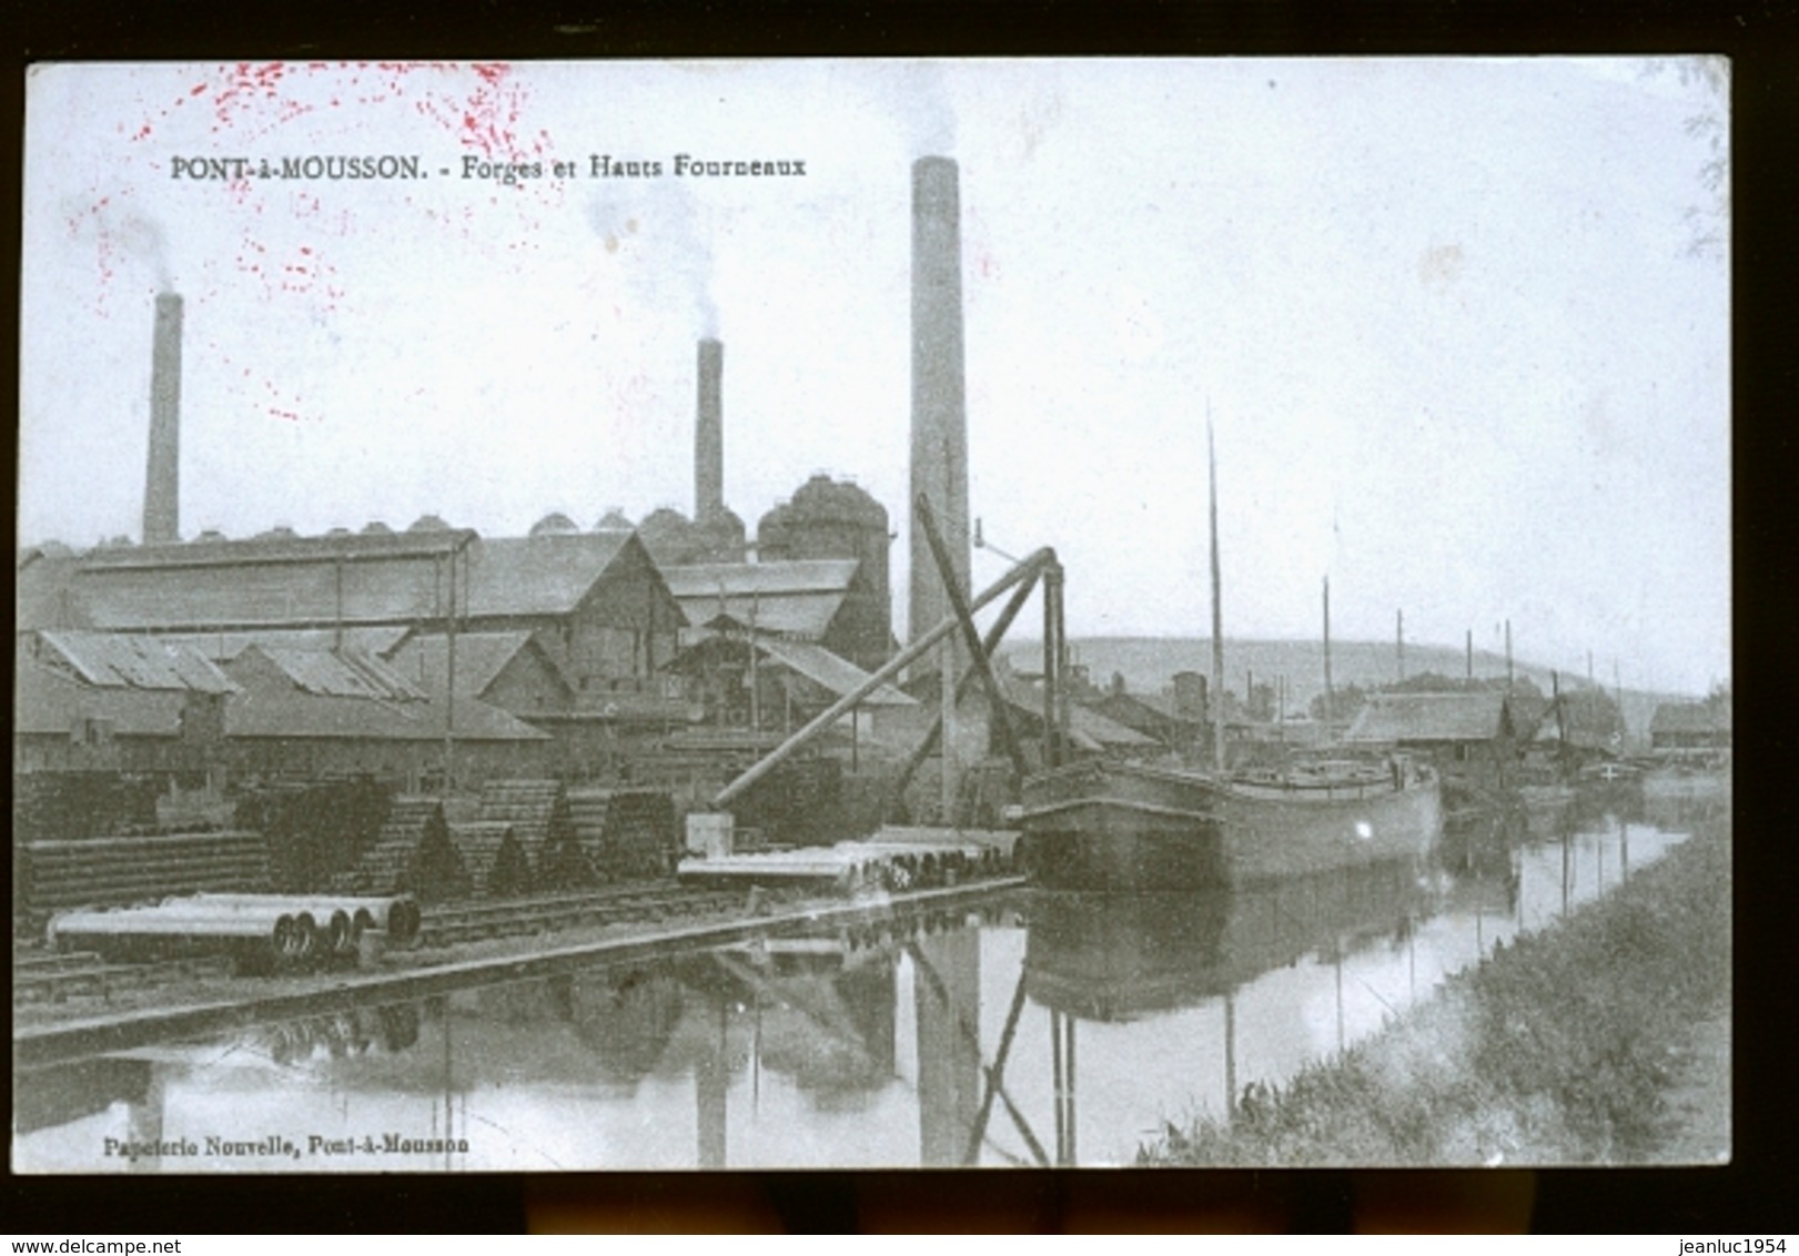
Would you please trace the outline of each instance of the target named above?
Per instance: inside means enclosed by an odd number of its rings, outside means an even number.
[[[1792,1233],[1792,806],[1777,794],[1799,713],[1788,425],[1799,419],[1794,232],[1799,194],[1799,0],[1695,4],[380,4],[380,0],[27,0],[0,22],[0,239],[18,292],[23,68],[41,59],[572,59],[671,56],[1423,56],[1720,52],[1732,58],[1734,619],[1736,619],[1736,1159],[1722,1170],[739,1173],[392,1179],[9,1177],[14,1233],[507,1233],[586,1200],[592,1224],[846,1231],[1204,1229],[1209,1218],[1342,1231],[1414,1218],[1419,1229],[1491,1229],[1526,1216],[1544,1233]],[[18,302],[4,378],[18,414]],[[14,419],[16,423],[16,419]],[[16,443],[14,446],[16,448]],[[16,482],[16,480],[14,480]],[[1648,556],[1651,561],[1653,558]],[[1785,723],[1783,723],[1785,720]],[[1790,911],[1790,909],[1788,909]],[[1394,1202],[1398,1209],[1394,1211]],[[1522,1200],[1522,1204],[1520,1204]],[[1094,1213],[1094,1206],[1124,1209]],[[736,1211],[732,1211],[736,1209]],[[1128,1220],[1117,1220],[1119,1216]],[[730,1220],[736,1216],[738,1220]],[[658,1222],[660,1218],[660,1222]]]

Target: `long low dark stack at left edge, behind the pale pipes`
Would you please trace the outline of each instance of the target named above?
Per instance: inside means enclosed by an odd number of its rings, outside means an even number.
[[[36,918],[209,889],[266,889],[268,848],[246,830],[27,842],[16,875],[23,911]]]

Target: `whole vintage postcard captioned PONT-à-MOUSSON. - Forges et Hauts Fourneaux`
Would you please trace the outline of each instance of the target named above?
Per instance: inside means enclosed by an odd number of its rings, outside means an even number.
[[[1729,1161],[1729,88],[34,67],[14,1171]]]

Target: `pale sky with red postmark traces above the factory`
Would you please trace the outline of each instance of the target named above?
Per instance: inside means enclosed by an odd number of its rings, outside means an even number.
[[[1520,659],[1704,693],[1727,99],[1725,63],[1668,59],[36,67],[20,540],[140,534],[158,290],[183,536],[691,511],[716,335],[727,504],[754,533],[855,479],[898,624],[910,164],[946,155],[977,585],[1052,545],[1072,635],[1205,635],[1211,421],[1227,633],[1317,635],[1328,576],[1337,639],[1509,619]],[[338,155],[425,176],[187,176]]]

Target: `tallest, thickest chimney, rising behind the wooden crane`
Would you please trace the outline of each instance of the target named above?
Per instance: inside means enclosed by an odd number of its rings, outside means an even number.
[[[962,234],[955,162],[912,164],[912,497],[930,500],[968,590],[968,416],[962,399]],[[943,578],[912,516],[912,597],[907,635],[950,614]],[[955,641],[955,639],[952,639]]]

